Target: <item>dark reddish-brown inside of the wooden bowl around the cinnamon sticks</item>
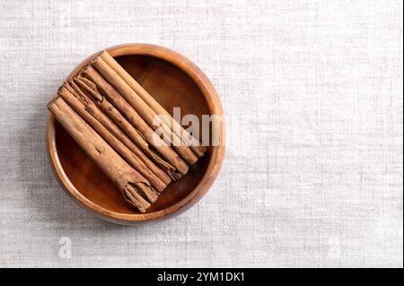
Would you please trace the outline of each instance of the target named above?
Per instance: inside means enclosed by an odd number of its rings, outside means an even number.
[[[172,108],[180,107],[181,117],[187,114],[197,115],[200,123],[203,114],[210,114],[198,86],[176,66],[153,56],[118,56],[116,60],[171,115]],[[199,130],[201,130],[200,126]],[[139,213],[127,204],[110,179],[101,172],[101,169],[92,162],[56,120],[55,136],[61,166],[67,178],[83,196],[92,203],[113,212]],[[211,154],[212,149],[208,147],[206,154],[189,168],[187,175],[178,181],[171,182],[147,212],[162,211],[189,195],[204,177]]]

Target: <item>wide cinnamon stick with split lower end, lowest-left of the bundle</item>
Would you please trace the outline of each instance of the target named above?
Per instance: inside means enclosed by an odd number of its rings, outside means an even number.
[[[75,142],[80,145],[97,166],[118,187],[129,204],[139,212],[145,212],[157,198],[150,183],[133,169],[92,127],[68,106],[60,97],[48,104],[48,109],[57,121],[65,127]]]

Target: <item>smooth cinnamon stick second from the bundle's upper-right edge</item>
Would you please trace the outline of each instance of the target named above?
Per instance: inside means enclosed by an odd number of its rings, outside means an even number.
[[[197,156],[195,156],[189,147],[180,140],[180,137],[171,131],[171,127],[164,123],[162,117],[158,116],[154,110],[137,95],[136,91],[134,91],[110,65],[104,62],[101,56],[96,57],[92,61],[92,65],[117,89],[117,91],[119,91],[132,108],[145,119],[145,122],[147,122],[149,126],[154,130],[160,127],[162,128],[163,140],[167,143],[171,143],[172,148],[174,148],[184,160],[189,164],[194,164],[198,160]]]

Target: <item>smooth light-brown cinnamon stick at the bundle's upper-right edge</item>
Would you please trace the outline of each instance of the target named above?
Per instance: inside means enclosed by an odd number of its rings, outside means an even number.
[[[187,146],[190,146],[192,151],[195,152],[198,157],[204,155],[204,152],[206,152],[206,147],[201,146],[195,137],[189,134],[187,130],[185,130],[173,117],[171,117],[171,114],[165,108],[163,108],[160,103],[157,102],[157,100],[154,100],[154,97],[145,91],[143,86],[136,82],[136,80],[130,74],[128,74],[127,71],[121,65],[119,65],[119,63],[112,56],[110,56],[107,51],[102,51],[100,56],[107,65],[110,65],[110,67],[117,74],[119,74],[120,77],[127,82],[127,84],[134,91],[136,91],[139,97],[144,100],[145,103],[152,108],[156,114],[164,116],[162,117],[162,120],[167,124],[167,126],[171,126],[171,131],[177,134],[181,138],[182,142],[186,143]]]

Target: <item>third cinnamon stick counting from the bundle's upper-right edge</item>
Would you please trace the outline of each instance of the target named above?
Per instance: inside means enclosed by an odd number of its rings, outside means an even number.
[[[170,147],[167,146],[157,134],[154,133],[152,127],[148,126],[145,120],[136,112],[134,108],[123,98],[110,82],[107,82],[101,74],[99,74],[92,65],[87,66],[81,73],[85,78],[94,82],[106,100],[119,109],[121,114],[136,127],[140,134],[145,138],[145,141],[150,144],[148,148],[153,146],[155,152],[170,163],[175,170],[168,170],[171,178],[180,178],[180,174],[185,175],[188,171],[187,163]],[[105,100],[104,99],[104,100]],[[141,144],[140,146],[142,146]]]

